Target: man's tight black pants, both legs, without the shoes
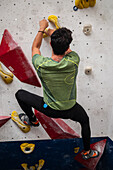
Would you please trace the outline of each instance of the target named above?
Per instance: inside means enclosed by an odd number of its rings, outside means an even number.
[[[27,114],[30,121],[36,120],[32,110],[32,108],[34,108],[51,118],[71,119],[73,121],[79,122],[81,124],[81,134],[83,138],[84,150],[88,151],[90,149],[89,117],[87,116],[87,113],[82,108],[82,106],[80,106],[78,103],[76,103],[71,109],[68,110],[54,110],[49,106],[44,108],[43,97],[28,91],[18,90],[15,96],[20,107]]]

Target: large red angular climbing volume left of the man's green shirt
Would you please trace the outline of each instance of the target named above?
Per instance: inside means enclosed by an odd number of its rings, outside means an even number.
[[[4,31],[0,45],[0,61],[21,81],[41,87],[41,84],[22,49],[8,30]]]

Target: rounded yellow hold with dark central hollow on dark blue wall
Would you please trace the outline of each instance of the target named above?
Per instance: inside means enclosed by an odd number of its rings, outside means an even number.
[[[31,152],[33,152],[34,148],[35,148],[35,144],[32,143],[22,143],[20,145],[21,150],[25,153],[25,154],[30,154]]]

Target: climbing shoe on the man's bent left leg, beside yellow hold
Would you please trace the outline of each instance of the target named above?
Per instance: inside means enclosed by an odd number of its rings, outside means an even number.
[[[29,121],[29,118],[25,113],[20,113],[19,118],[25,125],[29,125],[29,126],[39,126],[40,125],[39,120],[37,118],[36,118],[35,122]]]

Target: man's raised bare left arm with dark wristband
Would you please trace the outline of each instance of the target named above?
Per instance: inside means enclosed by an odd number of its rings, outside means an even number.
[[[39,31],[33,41],[33,45],[32,45],[32,57],[35,54],[41,55],[40,46],[42,44],[43,33],[44,33],[45,29],[48,27],[48,22],[47,22],[47,20],[43,19],[39,22],[39,25],[40,25],[40,29],[39,29]]]

